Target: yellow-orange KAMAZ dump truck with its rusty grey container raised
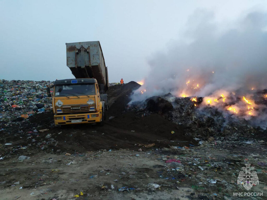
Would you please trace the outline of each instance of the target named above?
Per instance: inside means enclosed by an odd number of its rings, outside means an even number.
[[[56,80],[55,125],[100,123],[108,110],[108,73],[99,41],[66,43],[67,66],[75,78]],[[48,93],[50,88],[48,88]]]

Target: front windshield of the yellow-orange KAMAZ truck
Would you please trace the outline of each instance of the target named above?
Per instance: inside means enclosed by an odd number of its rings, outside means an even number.
[[[55,96],[81,96],[81,95],[95,95],[95,84],[84,85],[56,85]]]

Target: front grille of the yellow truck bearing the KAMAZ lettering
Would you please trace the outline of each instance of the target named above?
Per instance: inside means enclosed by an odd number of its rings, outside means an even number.
[[[57,113],[79,113],[87,111],[96,111],[95,105],[71,105],[71,106],[61,106],[57,108]]]

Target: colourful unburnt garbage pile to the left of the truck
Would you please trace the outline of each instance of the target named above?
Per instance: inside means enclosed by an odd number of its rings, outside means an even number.
[[[0,81],[0,129],[20,126],[32,115],[52,110],[51,81]]]

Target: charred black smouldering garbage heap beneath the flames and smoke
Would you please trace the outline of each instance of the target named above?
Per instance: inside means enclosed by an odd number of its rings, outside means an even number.
[[[242,140],[250,137],[266,138],[267,131],[254,127],[249,120],[225,116],[216,107],[199,109],[202,98],[177,98],[170,93],[154,96],[144,102],[133,102],[128,110],[137,110],[144,115],[157,113],[183,127],[184,134],[207,140],[210,137],[227,137],[228,140]]]

